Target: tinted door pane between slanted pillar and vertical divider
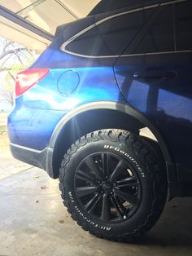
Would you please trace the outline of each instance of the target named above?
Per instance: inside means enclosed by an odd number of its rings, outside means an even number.
[[[138,42],[132,54],[174,51],[174,33],[172,7],[160,7],[159,18],[152,24],[141,42]],[[124,54],[130,54],[129,47]]]

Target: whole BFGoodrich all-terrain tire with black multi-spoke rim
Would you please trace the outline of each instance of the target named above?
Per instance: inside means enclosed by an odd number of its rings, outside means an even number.
[[[164,209],[168,189],[158,147],[112,129],[72,144],[61,163],[59,188],[76,223],[112,241],[132,241],[149,231]]]

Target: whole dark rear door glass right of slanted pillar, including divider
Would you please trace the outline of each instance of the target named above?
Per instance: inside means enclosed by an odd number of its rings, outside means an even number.
[[[177,2],[162,9],[144,38],[124,55],[192,50],[192,1]]]

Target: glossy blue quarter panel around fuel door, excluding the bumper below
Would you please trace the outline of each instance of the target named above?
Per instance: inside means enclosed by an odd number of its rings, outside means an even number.
[[[81,104],[98,100],[123,101],[116,85],[113,69],[108,67],[73,68],[79,76],[79,83],[72,93],[63,95],[58,89],[60,76],[70,69],[50,69],[50,73],[36,86],[22,96],[23,104],[28,108],[61,110],[64,113]],[[72,81],[73,82],[73,81]]]

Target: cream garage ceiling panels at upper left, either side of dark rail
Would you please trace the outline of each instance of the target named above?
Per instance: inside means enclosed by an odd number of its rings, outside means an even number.
[[[54,34],[59,24],[85,17],[98,2],[100,0],[0,0],[0,5]],[[0,36],[39,51],[49,43],[45,38],[1,17]]]

